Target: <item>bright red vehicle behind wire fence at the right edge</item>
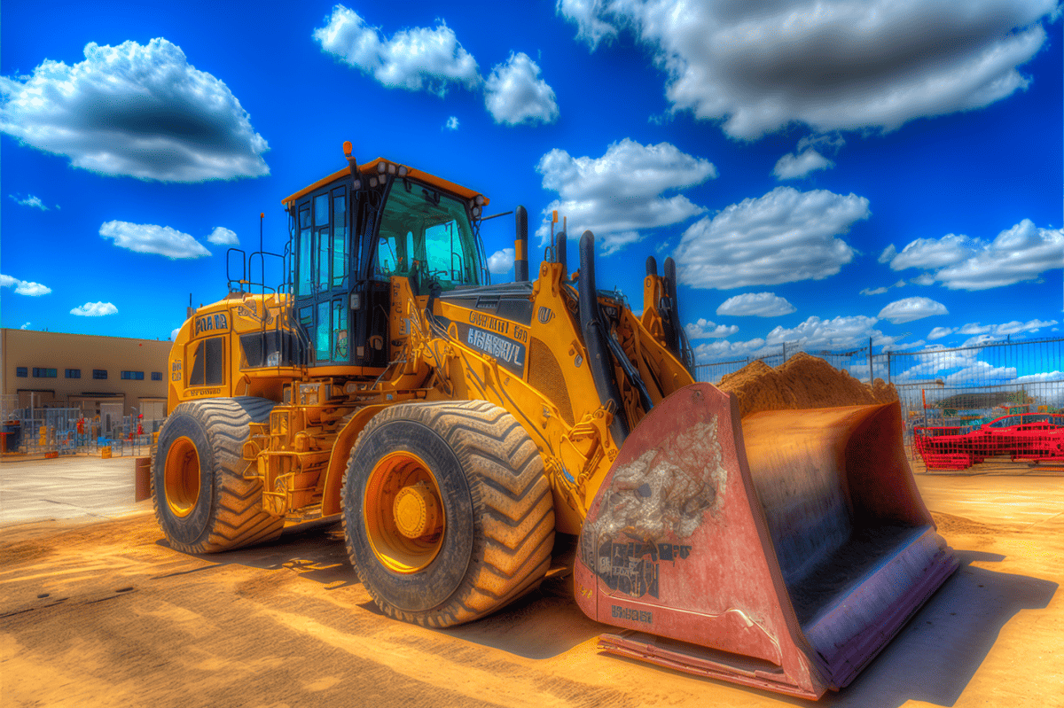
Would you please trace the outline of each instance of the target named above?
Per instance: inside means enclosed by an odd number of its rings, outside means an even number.
[[[913,443],[930,469],[964,470],[986,457],[1064,461],[1064,415],[1015,414],[977,426],[916,427]]]

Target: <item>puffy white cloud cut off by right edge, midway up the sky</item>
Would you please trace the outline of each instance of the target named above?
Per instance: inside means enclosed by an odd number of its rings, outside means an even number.
[[[1064,230],[1040,229],[1024,219],[993,241],[947,234],[917,238],[891,259],[891,268],[921,268],[917,285],[938,282],[951,290],[986,290],[1037,279],[1064,268]],[[934,271],[934,272],[931,272]]]

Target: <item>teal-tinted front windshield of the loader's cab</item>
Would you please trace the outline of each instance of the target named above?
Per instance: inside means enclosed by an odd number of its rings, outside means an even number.
[[[465,203],[410,180],[396,180],[378,232],[372,275],[436,281],[444,290],[480,285],[480,252]]]

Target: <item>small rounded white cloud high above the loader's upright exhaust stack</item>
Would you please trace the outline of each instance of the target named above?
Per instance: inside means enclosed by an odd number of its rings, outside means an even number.
[[[497,123],[552,123],[558,120],[554,89],[539,78],[539,67],[525,52],[497,64],[484,84],[484,105]]]

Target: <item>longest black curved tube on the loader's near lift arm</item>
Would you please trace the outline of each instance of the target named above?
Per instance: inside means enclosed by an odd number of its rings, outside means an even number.
[[[605,324],[599,313],[598,290],[595,288],[595,235],[585,231],[580,237],[580,328],[587,348],[587,367],[592,371],[595,388],[602,403],[613,401],[613,422],[610,435],[619,448],[628,437],[625,404],[613,377],[610,349],[606,343]]]

